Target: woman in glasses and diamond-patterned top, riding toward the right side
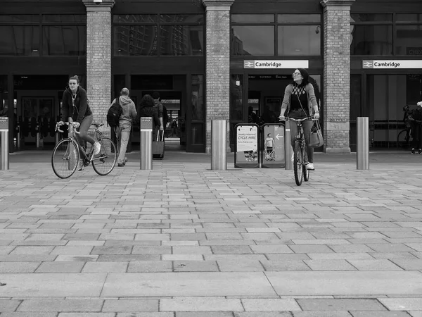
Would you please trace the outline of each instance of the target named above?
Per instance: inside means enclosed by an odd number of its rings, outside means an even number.
[[[314,86],[309,83],[309,74],[303,68],[298,68],[292,75],[293,83],[286,87],[284,92],[283,104],[279,119],[286,120],[284,113],[288,113],[288,117],[293,119],[302,119],[314,114],[314,119],[319,119],[318,104],[314,93]],[[305,120],[302,123],[303,133],[305,135],[305,143],[309,144],[309,136],[314,123],[312,120]],[[298,127],[296,124],[290,124],[290,143],[295,148],[295,140]],[[314,170],[314,148],[307,147],[307,157],[309,163],[308,170]]]

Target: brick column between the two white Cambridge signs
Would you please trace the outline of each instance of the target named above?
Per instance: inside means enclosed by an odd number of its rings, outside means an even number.
[[[350,153],[350,6],[323,0],[324,136],[326,153]]]

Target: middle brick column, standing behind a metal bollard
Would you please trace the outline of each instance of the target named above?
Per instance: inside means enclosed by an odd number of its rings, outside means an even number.
[[[206,147],[211,152],[211,120],[227,120],[227,149],[230,151],[230,6],[234,0],[203,0],[207,12],[206,31]]]

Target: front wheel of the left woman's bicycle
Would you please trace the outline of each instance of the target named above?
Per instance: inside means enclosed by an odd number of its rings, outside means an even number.
[[[58,178],[70,178],[79,163],[79,149],[71,139],[62,139],[53,149],[51,167]]]

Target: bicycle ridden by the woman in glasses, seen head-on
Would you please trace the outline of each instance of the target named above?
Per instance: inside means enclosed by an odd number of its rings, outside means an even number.
[[[307,157],[307,144],[305,143],[305,134],[303,133],[302,122],[305,120],[316,120],[313,116],[302,119],[286,118],[293,120],[298,125],[298,133],[296,134],[295,147],[293,149],[293,171],[295,173],[296,185],[302,185],[302,180],[309,180],[310,172],[307,169],[309,163]],[[288,158],[286,158],[288,159]]]

